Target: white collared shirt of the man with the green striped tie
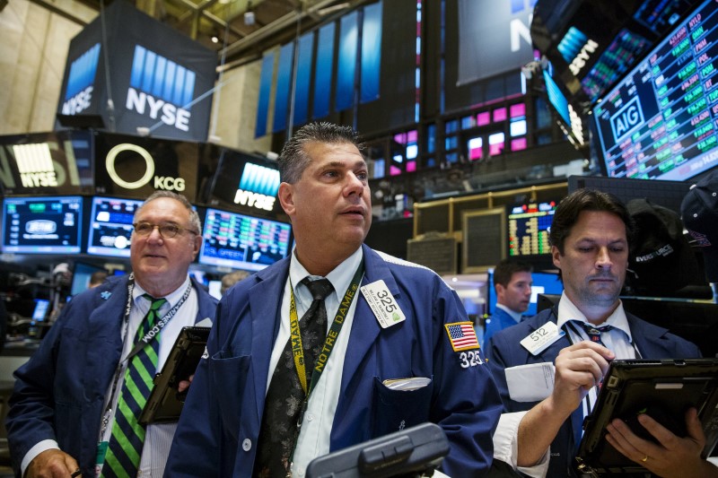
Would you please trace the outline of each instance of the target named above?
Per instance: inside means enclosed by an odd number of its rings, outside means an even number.
[[[185,282],[183,282],[182,285],[177,288],[177,290],[171,292],[171,294],[164,296],[167,302],[165,302],[159,310],[160,317],[164,316],[164,314],[166,314],[170,309],[174,307],[175,304],[177,304],[177,302],[180,301],[182,295],[184,295],[184,292],[188,287],[189,282],[190,281],[188,276],[185,279]],[[140,326],[142,319],[147,314],[147,311],[150,309],[150,301],[142,297],[144,293],[145,291],[142,289],[142,287],[135,282],[135,287],[132,290],[132,302],[129,312],[129,323],[127,326],[127,336],[129,337],[135,337],[137,333],[137,328]],[[178,309],[177,315],[172,317],[172,319],[167,323],[167,325],[162,328],[162,333],[160,334],[160,351],[157,357],[158,371],[162,370],[162,365],[164,364],[164,361],[167,360],[167,357],[170,355],[172,345],[174,345],[175,339],[180,335],[182,327],[193,326],[195,324],[198,307],[199,305],[197,301],[197,291],[192,288],[192,291],[189,293],[187,300],[184,304],[182,304],[182,307]],[[124,313],[124,305],[123,311],[121,313]],[[135,343],[133,340],[125,340],[124,326],[122,326],[120,330],[123,334],[123,348],[121,360],[124,360],[125,357],[127,357],[127,354],[135,346]],[[125,367],[127,367],[127,364],[125,364]],[[125,374],[123,372],[120,374],[117,390],[121,390],[124,379]],[[116,396],[112,397],[110,396],[111,393],[112,385],[110,384],[109,389],[105,394],[106,403],[102,410],[107,409],[107,401],[109,400],[113,400],[111,409],[113,411],[117,410],[117,401],[119,394],[116,393]],[[112,424],[114,423],[114,418],[114,415],[110,417],[108,426],[106,427],[104,434],[100,437],[102,441],[109,440],[109,437],[112,433]],[[174,437],[174,431],[176,429],[177,423],[159,423],[147,426],[146,434],[144,437],[144,448],[142,451],[142,457],[140,458],[139,471],[137,473],[138,477],[162,476],[162,474],[164,473],[164,466],[167,464],[167,457],[170,455],[172,438]],[[101,430],[98,430],[98,433],[100,433],[100,431]],[[35,456],[38,456],[41,452],[51,448],[59,449],[57,441],[42,440],[37,445],[32,447],[22,459],[22,474],[25,474],[27,466],[30,465],[30,462],[35,458]]]

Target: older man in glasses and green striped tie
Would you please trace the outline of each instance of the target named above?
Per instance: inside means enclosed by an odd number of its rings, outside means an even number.
[[[176,423],[146,430],[131,423],[142,437],[141,452],[125,456],[127,448],[118,446],[119,423],[132,420],[115,413],[125,410],[118,406],[120,395],[151,388],[154,376],[147,367],[144,380],[126,379],[127,356],[156,353],[156,369],[162,369],[181,328],[214,317],[216,300],[188,276],[202,236],[197,212],[184,196],[154,193],[136,210],[134,227],[132,274],[75,296],[39,350],[15,372],[6,424],[18,476],[89,478],[96,469],[108,477],[163,473]],[[135,340],[137,330],[151,307],[147,295],[159,309],[157,328],[148,328],[144,337],[158,332],[136,348],[142,343]]]

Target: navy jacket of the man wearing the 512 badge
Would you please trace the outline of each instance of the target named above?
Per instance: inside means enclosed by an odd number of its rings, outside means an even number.
[[[544,352],[534,356],[520,344],[524,337],[530,335],[548,321],[556,324],[556,313],[554,312],[556,308],[557,306],[552,309],[542,310],[536,316],[496,333],[486,344],[486,358],[494,375],[496,385],[499,387],[506,412],[529,410],[538,402],[516,402],[512,400],[509,397],[509,389],[506,385],[506,375],[503,373],[503,369],[529,363],[555,363],[558,352],[571,345],[568,335],[565,335],[551,344]],[[631,327],[631,335],[635,346],[644,359],[689,359],[700,357],[700,351],[693,343],[687,342],[687,340],[677,335],[672,335],[667,329],[649,324],[628,312],[626,312],[626,317],[628,326]],[[551,444],[551,461],[548,465],[547,474],[549,477],[565,478],[566,476],[574,475],[574,454],[573,451],[570,452],[570,448],[574,441],[574,426],[580,427],[583,420],[581,407],[574,412],[574,415],[570,420],[566,420],[556,435],[556,439]]]

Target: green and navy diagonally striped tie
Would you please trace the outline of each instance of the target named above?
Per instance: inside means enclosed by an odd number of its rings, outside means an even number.
[[[167,300],[154,299],[148,294],[143,296],[151,300],[150,310],[137,328],[135,342],[138,343],[158,318],[158,310]],[[129,362],[125,370],[125,382],[118,398],[115,411],[115,423],[109,439],[102,476],[136,476],[140,465],[140,456],[144,445],[144,426],[138,419],[153,388],[154,372],[157,369],[157,352],[160,350],[160,336],[147,344]]]

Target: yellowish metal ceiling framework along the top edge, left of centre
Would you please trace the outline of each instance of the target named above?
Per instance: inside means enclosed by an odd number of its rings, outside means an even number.
[[[74,22],[52,0],[31,0]],[[111,0],[77,0],[101,12]],[[104,4],[101,2],[104,1]],[[130,0],[136,8],[217,51],[222,69],[261,57],[268,48],[285,44],[311,30],[375,0]]]

